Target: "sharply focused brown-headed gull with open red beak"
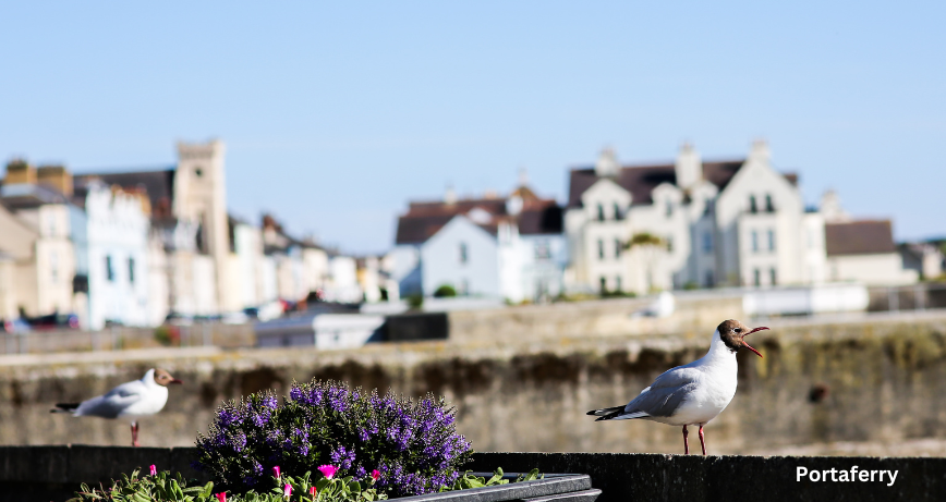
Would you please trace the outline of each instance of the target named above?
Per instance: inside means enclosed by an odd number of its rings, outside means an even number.
[[[739,370],[736,353],[744,347],[762,357],[744,339],[748,334],[767,329],[763,326],[750,330],[737,320],[725,320],[713,333],[710,352],[705,356],[665,371],[627,405],[592,409],[587,414],[598,417],[595,421],[641,418],[683,426],[684,455],[690,453],[687,426],[699,426],[700,445],[703,455],[706,455],[703,426],[726,409],[736,395]]]

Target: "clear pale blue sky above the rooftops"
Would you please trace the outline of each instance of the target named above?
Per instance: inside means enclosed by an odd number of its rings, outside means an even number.
[[[809,203],[946,234],[943,2],[7,2],[0,157],[170,166],[223,139],[228,206],[355,253],[411,199],[565,198],[569,167],[743,156]]]

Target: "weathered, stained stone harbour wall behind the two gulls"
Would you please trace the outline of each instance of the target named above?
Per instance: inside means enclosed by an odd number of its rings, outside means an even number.
[[[504,321],[507,322],[507,321]],[[511,322],[511,321],[508,321]],[[944,438],[946,315],[783,320],[740,354],[736,399],[706,427],[711,453],[771,453],[832,441]],[[704,330],[706,331],[706,330]],[[128,423],[50,414],[158,366],[185,381],[142,420],[151,446],[193,444],[223,400],[293,380],[341,379],[445,395],[477,451],[679,453],[676,427],[595,423],[587,409],[626,403],[664,370],[703,355],[708,332],[373,345],[356,351],[194,347],[0,357],[0,444],[126,444]],[[695,434],[691,440],[699,442]]]

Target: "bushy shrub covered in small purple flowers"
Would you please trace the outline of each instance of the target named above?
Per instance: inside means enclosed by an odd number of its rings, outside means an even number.
[[[225,404],[207,436],[198,434],[197,451],[194,467],[234,491],[258,487],[274,466],[301,476],[328,464],[356,481],[373,480],[376,469],[375,487],[390,497],[451,487],[471,455],[442,399],[317,380],[293,383],[281,405],[271,392]]]

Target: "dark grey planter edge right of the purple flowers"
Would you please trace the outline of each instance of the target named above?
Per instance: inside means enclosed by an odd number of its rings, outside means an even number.
[[[486,478],[492,476],[492,473],[475,474]],[[519,477],[518,473],[508,473],[502,478],[514,481],[517,477]],[[471,488],[392,500],[399,502],[594,502],[601,492],[601,490],[592,488],[591,477],[587,475],[547,474],[544,479],[534,481],[509,482],[495,487]]]

